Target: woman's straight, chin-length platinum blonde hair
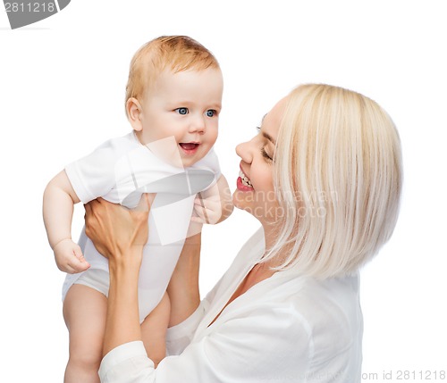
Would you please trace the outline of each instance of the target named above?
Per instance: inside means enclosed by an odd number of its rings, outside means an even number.
[[[391,118],[356,92],[302,85],[288,96],[276,145],[284,213],[265,260],[287,249],[279,270],[323,279],[357,271],[392,236],[398,217],[401,143]]]

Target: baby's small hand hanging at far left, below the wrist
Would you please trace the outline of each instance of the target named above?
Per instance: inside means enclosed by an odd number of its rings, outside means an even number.
[[[53,249],[55,252],[55,262],[60,271],[75,274],[86,271],[90,264],[82,255],[80,246],[75,244],[72,239],[63,239]]]

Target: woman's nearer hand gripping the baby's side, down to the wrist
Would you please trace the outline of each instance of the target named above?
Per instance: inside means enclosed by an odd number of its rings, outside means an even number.
[[[126,254],[142,254],[143,246],[148,242],[150,203],[147,194],[133,210],[102,198],[90,201],[84,207],[86,235],[100,254],[117,262]]]

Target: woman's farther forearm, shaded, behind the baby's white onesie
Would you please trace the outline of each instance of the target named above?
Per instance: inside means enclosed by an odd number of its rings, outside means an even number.
[[[188,237],[167,288],[171,300],[169,327],[186,320],[200,304],[198,269],[201,233]]]

